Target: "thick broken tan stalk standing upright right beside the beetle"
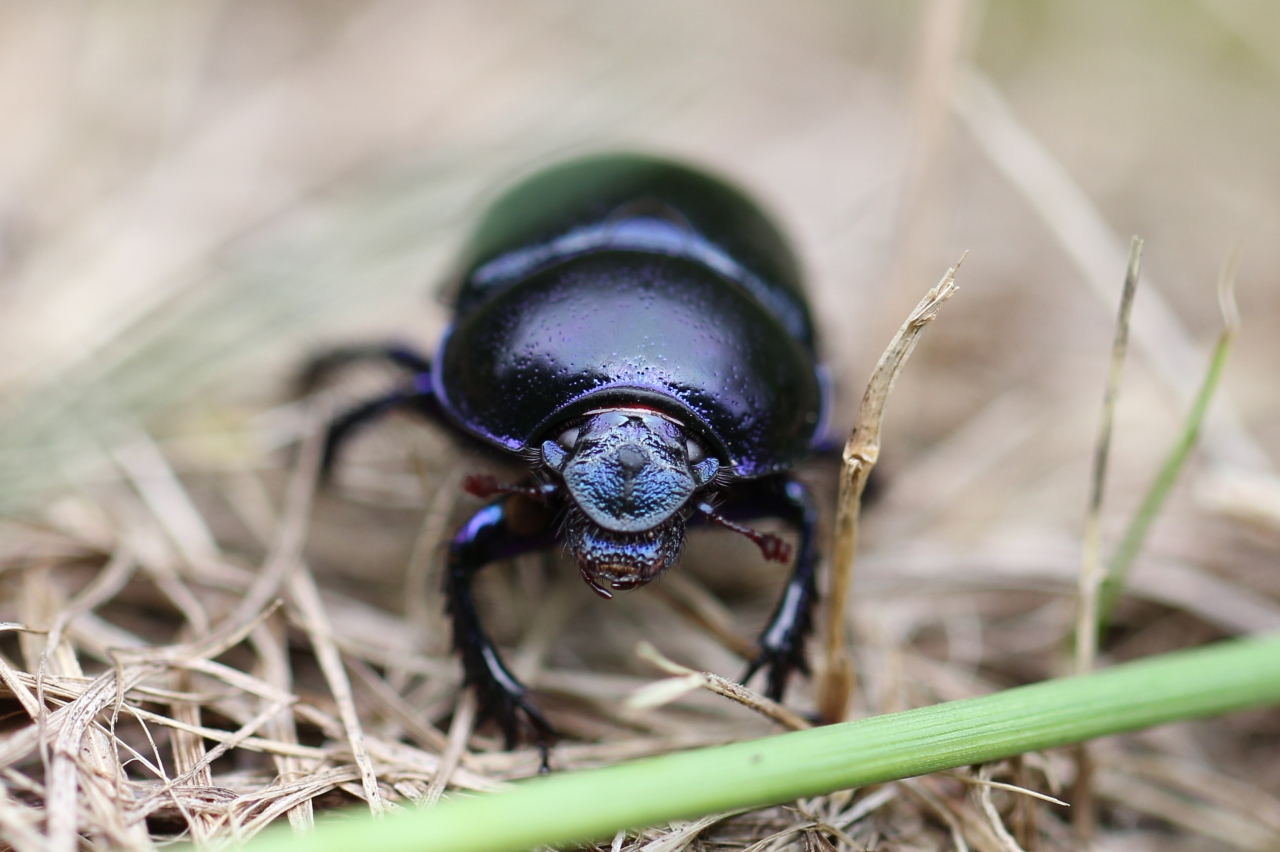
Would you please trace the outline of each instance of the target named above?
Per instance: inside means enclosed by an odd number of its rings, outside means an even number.
[[[964,262],[960,256],[937,287],[925,293],[906,322],[897,330],[876,365],[863,394],[854,430],[845,443],[840,471],[840,496],[836,504],[836,533],[831,550],[831,597],[827,601],[827,636],[823,667],[818,681],[818,711],[827,722],[842,722],[849,715],[854,695],[854,663],[849,654],[845,610],[854,585],[854,556],[858,550],[858,516],[867,477],[879,458],[881,421],[893,383],[915,349],[920,331],[938,315],[942,303],[956,292],[955,275]]]

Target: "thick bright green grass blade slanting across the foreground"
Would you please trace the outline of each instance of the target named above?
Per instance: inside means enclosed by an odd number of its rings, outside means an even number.
[[[965,701],[607,769],[438,807],[271,829],[251,852],[515,852],[1280,702],[1280,637],[1219,642]]]

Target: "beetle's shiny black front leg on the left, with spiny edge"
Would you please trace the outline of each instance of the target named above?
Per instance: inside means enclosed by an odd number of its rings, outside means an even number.
[[[471,580],[497,559],[545,548],[556,540],[556,512],[525,494],[509,494],[476,512],[449,544],[445,600],[453,619],[453,649],[462,655],[466,683],[476,691],[477,715],[502,728],[507,748],[515,748],[521,730],[531,734],[547,764],[547,746],[554,730],[529,690],[507,669],[480,623]]]

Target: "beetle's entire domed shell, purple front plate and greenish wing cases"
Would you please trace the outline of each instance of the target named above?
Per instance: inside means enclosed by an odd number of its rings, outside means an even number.
[[[577,414],[641,404],[756,477],[820,434],[796,262],[727,184],[643,156],[573,161],[499,198],[470,258],[433,390],[477,438],[536,449]]]

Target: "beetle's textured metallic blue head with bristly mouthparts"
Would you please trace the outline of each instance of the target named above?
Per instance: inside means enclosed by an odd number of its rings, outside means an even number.
[[[591,412],[543,459],[573,500],[570,550],[598,592],[643,586],[680,556],[681,509],[719,462],[678,423],[644,408]]]

